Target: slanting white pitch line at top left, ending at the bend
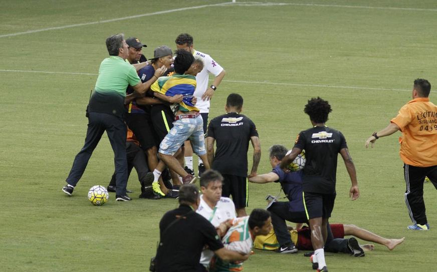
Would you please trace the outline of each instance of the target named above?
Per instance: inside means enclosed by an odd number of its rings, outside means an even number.
[[[161,15],[161,14],[167,14],[167,13],[174,13],[174,12],[181,12],[181,11],[187,11],[187,10],[202,9],[202,8],[214,7],[214,6],[223,6],[223,5],[229,5],[229,4],[232,4],[232,3],[231,2],[227,2],[227,3],[219,3],[219,4],[194,6],[194,7],[166,10],[166,11],[160,11],[160,12],[154,12],[154,13],[138,14],[138,15],[133,15],[133,16],[109,19],[109,20],[102,20],[102,21],[95,21],[95,22],[88,22],[88,23],[81,23],[81,24],[73,24],[73,25],[60,26],[60,27],[51,27],[51,28],[45,28],[45,29],[30,30],[30,31],[24,31],[24,32],[17,32],[17,33],[0,35],[0,38],[12,37],[12,36],[18,36],[18,35],[24,35],[24,34],[31,34],[31,33],[37,33],[37,32],[49,31],[49,30],[60,30],[60,29],[68,29],[68,28],[75,28],[75,27],[82,27],[82,26],[89,26],[89,25],[112,23],[112,22],[123,21],[123,20],[130,20],[130,19],[146,17],[146,16]]]

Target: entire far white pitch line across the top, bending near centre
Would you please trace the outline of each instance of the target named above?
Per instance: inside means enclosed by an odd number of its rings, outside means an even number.
[[[266,2],[266,3],[263,3],[263,2],[236,2],[236,3],[225,2],[225,3],[218,3],[218,4],[210,4],[210,5],[202,5],[202,6],[194,6],[194,7],[166,10],[166,11],[160,11],[160,12],[154,12],[154,13],[139,14],[139,15],[133,15],[133,16],[127,16],[127,17],[121,17],[121,18],[114,18],[114,19],[108,19],[108,20],[102,20],[102,21],[95,21],[95,22],[88,22],[88,23],[81,23],[81,24],[73,24],[73,25],[60,26],[60,27],[51,27],[51,28],[37,29],[37,30],[29,30],[29,31],[16,32],[16,33],[10,33],[10,34],[3,34],[3,35],[0,35],[0,38],[13,37],[13,36],[19,36],[19,35],[25,35],[25,34],[32,34],[32,33],[38,33],[38,32],[43,32],[43,31],[49,31],[49,30],[60,30],[60,29],[68,29],[68,28],[75,28],[75,27],[82,27],[82,26],[89,26],[89,25],[111,23],[111,22],[130,20],[130,19],[146,17],[146,16],[161,15],[161,14],[167,14],[167,13],[174,13],[174,12],[187,11],[187,10],[202,9],[202,8],[207,8],[207,7],[225,6],[225,5],[233,5],[233,6],[270,6],[270,7],[271,6],[304,6],[304,7],[332,7],[332,8],[347,8],[347,9],[373,9],[373,10],[399,10],[399,11],[428,11],[428,12],[437,12],[437,9],[416,9],[416,8],[396,8],[396,7],[370,7],[370,6],[349,6],[349,5],[329,5],[329,4],[303,4],[303,3],[270,3],[270,2]]]

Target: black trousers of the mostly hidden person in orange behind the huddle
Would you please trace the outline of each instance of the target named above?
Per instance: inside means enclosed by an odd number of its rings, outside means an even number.
[[[131,141],[126,142],[126,157],[127,157],[127,176],[129,178],[130,172],[132,168],[135,167],[135,170],[138,174],[138,180],[144,181],[146,174],[149,172],[149,168],[147,167],[147,160],[144,151],[135,143]],[[114,172],[112,175],[111,181],[109,185],[115,185],[117,172]]]

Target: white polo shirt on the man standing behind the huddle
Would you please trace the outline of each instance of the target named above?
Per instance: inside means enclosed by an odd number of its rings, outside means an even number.
[[[209,112],[209,100],[202,100],[202,95],[208,89],[208,77],[209,73],[218,76],[223,71],[223,67],[216,63],[209,55],[196,50],[193,51],[194,58],[199,58],[203,61],[203,70],[196,76],[197,87],[194,91],[194,96],[197,97],[196,108],[200,110],[200,113]]]

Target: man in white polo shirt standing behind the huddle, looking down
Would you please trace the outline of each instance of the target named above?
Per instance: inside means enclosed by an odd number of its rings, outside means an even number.
[[[194,96],[197,97],[196,107],[200,110],[200,115],[203,118],[203,133],[206,134],[206,126],[208,124],[209,103],[214,95],[218,85],[222,82],[226,75],[226,71],[220,64],[215,62],[208,54],[196,51],[193,48],[193,37],[187,33],[182,33],[176,38],[177,49],[183,49],[191,52],[195,58],[199,58],[203,61],[203,70],[196,76],[197,87],[194,92]],[[211,85],[208,85],[209,73],[215,76]],[[193,175],[193,152],[189,142],[185,142],[185,165],[190,171],[189,174]],[[187,170],[187,169],[185,169]],[[199,158],[198,175],[205,170],[202,160]]]

